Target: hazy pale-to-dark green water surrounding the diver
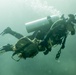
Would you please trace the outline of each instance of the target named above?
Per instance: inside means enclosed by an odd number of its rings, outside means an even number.
[[[48,15],[75,14],[76,0],[0,0],[0,32],[11,27],[24,36],[27,33],[25,23]],[[15,44],[18,41],[12,35],[0,35],[0,47]],[[76,75],[76,35],[69,35],[66,47],[59,60],[55,55],[60,47],[53,47],[48,55],[39,53],[34,58],[11,58],[12,52],[0,55],[0,75]]]

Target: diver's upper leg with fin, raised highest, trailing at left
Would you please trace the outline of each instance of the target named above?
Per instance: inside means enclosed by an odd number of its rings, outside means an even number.
[[[16,37],[17,39],[20,39],[23,37],[22,34],[13,31],[10,27],[7,27],[0,35],[5,35],[5,34],[11,34],[14,37]]]

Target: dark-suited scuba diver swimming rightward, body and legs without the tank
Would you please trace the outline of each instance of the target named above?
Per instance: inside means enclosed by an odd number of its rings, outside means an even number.
[[[39,39],[40,32],[35,32],[34,38],[29,38],[30,36],[23,37],[23,35],[12,31],[9,27],[3,31],[1,34],[10,33],[19,41],[15,44],[15,46],[7,44],[3,46],[1,51],[14,51],[13,55],[17,54],[20,58],[26,59],[27,57],[34,57],[38,52],[43,51],[45,55],[51,51],[54,45],[62,45],[60,50],[56,55],[56,59],[60,57],[61,49],[65,48],[66,38],[68,36],[68,32],[71,32],[71,35],[75,34],[74,23],[76,23],[75,16],[73,14],[68,15],[69,18],[65,19],[64,17],[54,22],[52,26],[47,30],[46,34],[42,36],[43,39]],[[13,33],[11,33],[11,31]],[[14,35],[15,34],[15,35]],[[19,37],[18,37],[19,36]],[[32,49],[31,49],[32,48]]]

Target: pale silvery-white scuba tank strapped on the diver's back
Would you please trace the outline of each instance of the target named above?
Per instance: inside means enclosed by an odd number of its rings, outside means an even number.
[[[32,22],[25,23],[25,27],[28,33],[39,30],[41,27],[47,27],[49,24],[52,25],[60,17],[57,15],[47,16]]]

